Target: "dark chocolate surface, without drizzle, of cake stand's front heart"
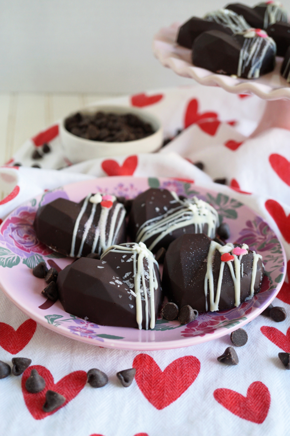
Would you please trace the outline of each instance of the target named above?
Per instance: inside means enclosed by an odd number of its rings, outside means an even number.
[[[262,38],[264,39],[264,38]],[[197,67],[206,68],[212,72],[237,75],[239,65],[239,53],[243,47],[245,38],[236,34],[229,36],[219,31],[204,32],[196,38],[192,46],[192,63]],[[262,41],[261,52],[266,44]],[[275,66],[275,52],[269,47],[263,58],[260,68],[260,76],[273,71]],[[247,78],[252,63],[249,62],[240,77]]]

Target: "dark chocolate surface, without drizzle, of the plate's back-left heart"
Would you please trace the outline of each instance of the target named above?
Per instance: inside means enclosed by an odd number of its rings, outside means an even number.
[[[51,201],[51,203],[45,204],[44,206],[38,208],[37,214],[34,219],[34,229],[37,238],[44,244],[51,247],[53,250],[69,256],[71,253],[71,240],[74,231],[74,224],[76,219],[78,218],[78,214],[81,210],[81,206],[83,205],[83,203],[84,199],[79,203],[74,203],[73,201],[66,200],[65,198],[57,198],[56,200]],[[106,227],[106,237],[109,233],[111,217],[114,213],[117,203],[118,202],[115,201],[109,211]],[[78,226],[74,249],[75,255],[77,255],[78,250],[81,246],[81,239],[84,233],[84,225],[88,221],[88,218],[91,214],[92,206],[93,204],[89,201],[88,206]],[[120,214],[121,210],[118,213],[116,226]],[[101,204],[97,204],[94,220],[88,232],[87,238],[84,242],[84,247],[82,249],[83,256],[91,252],[94,241],[95,229],[98,225],[100,215]],[[125,220],[123,220],[115,243],[121,244],[125,242],[125,240]],[[99,242],[100,240],[98,241],[95,252],[98,252]]]

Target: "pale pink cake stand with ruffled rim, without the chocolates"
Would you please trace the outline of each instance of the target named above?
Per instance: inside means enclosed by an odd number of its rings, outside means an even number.
[[[275,69],[256,79],[216,74],[192,65],[191,50],[176,44],[180,26],[181,23],[174,23],[162,28],[154,37],[153,53],[162,65],[202,85],[220,86],[227,92],[254,94],[267,100],[265,112],[252,137],[273,127],[290,130],[290,84],[280,74],[283,58],[277,56]]]

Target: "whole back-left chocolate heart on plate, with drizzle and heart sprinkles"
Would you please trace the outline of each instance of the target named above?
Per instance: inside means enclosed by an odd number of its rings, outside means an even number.
[[[61,254],[100,254],[125,242],[125,208],[105,194],[88,194],[79,203],[57,198],[38,208],[34,229],[41,242]]]

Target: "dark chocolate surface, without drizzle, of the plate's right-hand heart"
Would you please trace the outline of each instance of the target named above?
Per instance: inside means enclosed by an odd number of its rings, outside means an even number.
[[[207,269],[207,256],[211,239],[203,234],[183,235],[175,239],[169,246],[165,255],[162,276],[162,288],[169,301],[173,301],[178,307],[191,306],[199,312],[206,310],[206,298],[204,293],[204,281]],[[216,250],[213,260],[213,283],[214,298],[219,279],[220,253]],[[243,303],[250,295],[252,279],[253,252],[243,255],[243,277],[241,278],[240,301]],[[233,265],[233,269],[234,265]],[[263,279],[263,265],[261,259],[257,263],[254,293],[260,291]],[[207,293],[208,308],[209,287]],[[219,310],[229,309],[235,303],[235,290],[233,278],[229,266],[225,263],[223,270],[223,282],[221,287]]]

